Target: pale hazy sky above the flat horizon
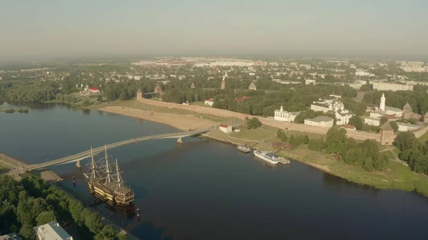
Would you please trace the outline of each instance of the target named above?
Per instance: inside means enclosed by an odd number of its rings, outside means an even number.
[[[428,56],[428,0],[1,0],[0,57]]]

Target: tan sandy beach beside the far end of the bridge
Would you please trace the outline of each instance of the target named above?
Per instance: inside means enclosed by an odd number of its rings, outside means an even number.
[[[133,118],[140,118],[153,122],[163,123],[170,125],[180,130],[187,131],[189,129],[204,128],[218,125],[218,122],[212,120],[198,118],[194,115],[179,115],[171,113],[156,113],[148,110],[141,110],[136,108],[125,108],[118,106],[108,106],[106,108],[98,108],[98,110],[106,113],[114,113],[119,115],[126,115]]]

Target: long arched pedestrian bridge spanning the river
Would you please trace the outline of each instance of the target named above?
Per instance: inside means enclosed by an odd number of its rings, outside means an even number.
[[[190,131],[186,131],[186,132],[172,132],[172,133],[165,133],[165,134],[160,134],[160,135],[151,135],[151,136],[146,136],[146,137],[132,138],[129,140],[124,140],[124,141],[120,141],[120,142],[113,142],[113,143],[105,145],[105,146],[93,148],[92,153],[96,154],[98,152],[103,152],[105,149],[111,149],[113,147],[120,147],[123,145],[128,145],[131,143],[137,143],[137,142],[146,141],[146,140],[165,139],[165,138],[177,138],[178,139],[180,137],[189,137],[189,136],[193,136],[193,135],[202,134],[204,132],[209,132],[210,130],[214,130],[217,127],[218,126],[213,126],[213,127],[203,128],[203,129],[190,130]],[[75,155],[63,157],[63,158],[60,158],[58,160],[51,160],[49,162],[44,162],[44,163],[36,164],[36,165],[28,165],[28,166],[24,167],[24,170],[31,171],[34,169],[49,167],[51,165],[61,165],[61,164],[68,163],[68,162],[77,162],[79,160],[83,160],[83,159],[86,159],[88,157],[91,157],[91,150],[79,152]]]

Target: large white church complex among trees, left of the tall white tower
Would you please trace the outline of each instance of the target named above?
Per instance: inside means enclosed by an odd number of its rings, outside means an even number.
[[[313,102],[310,105],[310,109],[320,112],[333,112],[336,117],[336,125],[345,125],[350,122],[350,118],[355,116],[352,111],[345,109],[345,105],[339,99],[339,95],[330,95],[325,99],[321,99],[317,102]]]

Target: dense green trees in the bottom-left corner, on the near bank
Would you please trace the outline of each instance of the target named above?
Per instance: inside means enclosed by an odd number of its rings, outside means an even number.
[[[126,239],[113,226],[104,226],[96,212],[41,179],[16,182],[1,175],[0,202],[0,235],[15,232],[24,240],[35,240],[34,226],[58,221],[75,227],[80,239]]]

